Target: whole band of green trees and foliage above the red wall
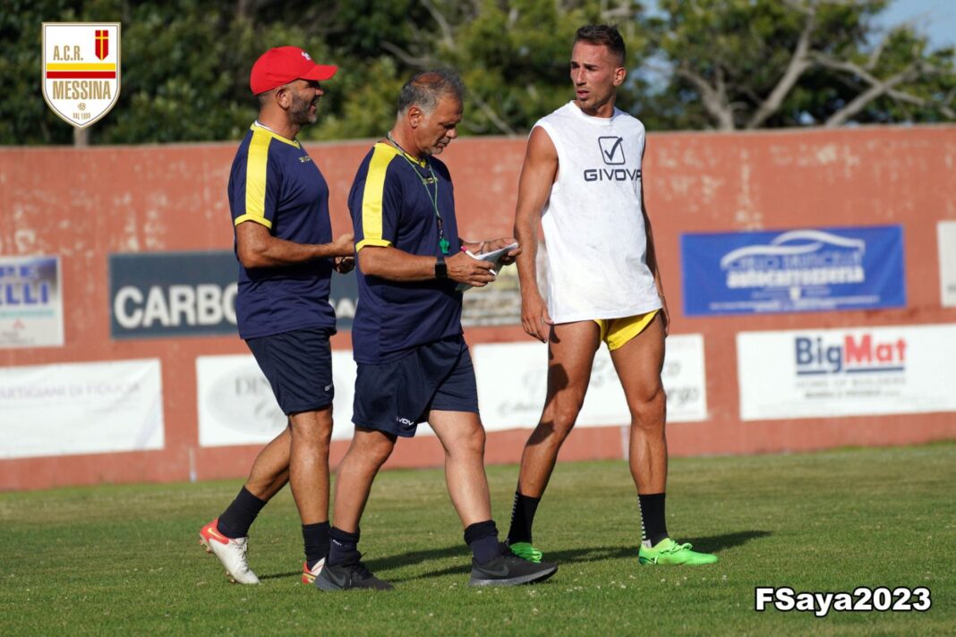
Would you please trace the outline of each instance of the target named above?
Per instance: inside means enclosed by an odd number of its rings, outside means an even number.
[[[8,89],[0,143],[73,139],[41,96],[44,21],[122,23],[120,98],[88,129],[92,143],[241,137],[257,108],[252,62],[286,44],[340,69],[319,124],[302,138],[380,136],[402,83],[439,66],[466,81],[465,134],[522,135],[573,97],[567,60],[576,29],[608,22],[628,48],[619,106],[652,130],[952,121],[956,55],[931,51],[905,28],[882,41],[874,17],[887,2],[659,0],[648,13],[638,0],[9,0],[0,11]],[[771,104],[808,11],[809,53]],[[891,80],[891,89],[855,101]]]

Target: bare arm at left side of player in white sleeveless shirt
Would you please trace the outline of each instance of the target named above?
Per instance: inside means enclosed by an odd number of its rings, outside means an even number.
[[[514,237],[521,245],[518,281],[521,284],[521,323],[530,336],[546,342],[553,321],[537,286],[537,229],[541,210],[551,196],[557,176],[557,150],[543,128],[536,127],[528,139],[525,162],[518,181],[518,203],[514,212]]]

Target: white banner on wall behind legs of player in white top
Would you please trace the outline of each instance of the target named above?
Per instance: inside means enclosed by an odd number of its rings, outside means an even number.
[[[548,346],[544,343],[496,343],[471,348],[482,422],[489,431],[533,428],[548,387]],[[704,337],[667,337],[663,365],[667,420],[706,420]],[[606,348],[597,350],[591,383],[578,426],[627,425],[630,411]]]

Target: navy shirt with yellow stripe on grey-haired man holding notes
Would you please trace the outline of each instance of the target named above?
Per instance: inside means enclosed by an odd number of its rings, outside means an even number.
[[[449,254],[455,254],[461,244],[445,164],[434,158],[417,161],[389,144],[373,146],[359,165],[349,193],[356,249],[391,245],[409,254],[437,257],[441,248],[432,204],[436,184]],[[357,362],[394,360],[409,350],[462,333],[462,293],[455,290],[453,281],[405,283],[358,271],[359,306],[352,325]]]

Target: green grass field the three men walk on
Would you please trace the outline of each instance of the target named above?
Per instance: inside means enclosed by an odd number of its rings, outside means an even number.
[[[516,467],[490,467],[507,531]],[[0,494],[0,634],[956,633],[956,444],[676,459],[668,528],[716,552],[701,567],[639,566],[623,462],[558,467],[535,543],[554,578],[467,587],[469,554],[442,473],[383,472],[362,520],[389,593],[298,584],[301,535],[281,493],[252,527],[263,584],[228,584],[197,532],[241,481]],[[927,586],[927,612],[755,612],[754,587]]]

